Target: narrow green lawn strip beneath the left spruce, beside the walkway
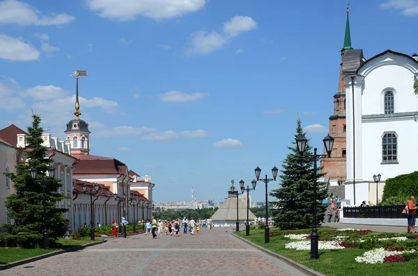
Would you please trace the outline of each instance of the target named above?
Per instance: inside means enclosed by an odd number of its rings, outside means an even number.
[[[102,241],[101,239],[96,238],[95,241]],[[57,245],[50,250],[44,249],[23,249],[16,247],[0,247],[0,265],[6,263],[13,263],[13,261],[20,261],[23,259],[28,259],[31,257],[36,257],[42,254],[54,252],[56,250],[67,249],[70,247],[77,247],[80,245],[85,245],[87,243],[93,243],[95,241],[90,241],[90,238],[82,238],[81,240],[65,239],[59,238]]]

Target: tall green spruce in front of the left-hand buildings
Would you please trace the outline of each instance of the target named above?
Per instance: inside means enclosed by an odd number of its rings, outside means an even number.
[[[37,179],[49,179],[47,169],[52,159],[46,156],[47,147],[42,146],[42,132],[40,127],[40,116],[33,115],[32,126],[28,127],[28,145],[24,153],[26,163],[18,163],[15,166],[16,174],[7,173],[15,193],[6,197],[6,208],[8,217],[15,220],[15,225],[3,224],[8,228],[10,240],[15,241],[22,247],[36,247],[42,244],[42,233],[44,229],[43,205],[42,205],[42,184],[33,181],[31,168],[38,169]],[[45,181],[45,206],[47,213],[47,229],[49,238],[54,240],[62,236],[68,220],[63,218],[67,209],[57,208],[56,204],[65,198],[59,193],[61,180],[53,179]]]

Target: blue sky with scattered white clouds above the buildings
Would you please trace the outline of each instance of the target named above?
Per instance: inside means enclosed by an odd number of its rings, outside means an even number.
[[[371,58],[418,51],[418,1],[350,1]],[[222,201],[231,179],[272,177],[296,120],[322,150],[337,92],[346,1],[0,1],[0,127],[31,112],[52,137],[74,119],[75,70],[91,154],[156,184],[154,200]],[[280,173],[280,172],[279,172]],[[268,190],[279,188],[270,182]],[[265,199],[258,182],[253,201]],[[270,197],[269,200],[272,200]]]

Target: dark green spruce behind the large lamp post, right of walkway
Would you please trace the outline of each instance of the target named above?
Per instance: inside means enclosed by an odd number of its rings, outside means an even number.
[[[295,138],[298,136],[306,136],[300,120],[297,120]],[[288,149],[291,153],[282,165],[284,170],[281,170],[279,181],[281,188],[270,192],[271,196],[277,198],[277,201],[272,202],[274,221],[280,229],[310,228],[314,213],[314,159],[309,156],[313,154],[312,147],[308,140],[304,154],[300,156],[293,140]],[[322,154],[322,149],[318,149],[318,154]],[[317,180],[323,176],[318,166]],[[316,188],[316,221],[320,225],[325,216],[326,206],[321,202],[327,196],[327,184],[317,181]]]

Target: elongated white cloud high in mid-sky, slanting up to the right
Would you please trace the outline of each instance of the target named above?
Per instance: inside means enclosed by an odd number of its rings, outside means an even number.
[[[235,16],[229,22],[224,23],[222,33],[196,31],[190,35],[189,46],[185,49],[186,54],[189,56],[204,55],[221,49],[235,36],[245,31],[251,31],[256,26],[256,22],[251,17]]]

